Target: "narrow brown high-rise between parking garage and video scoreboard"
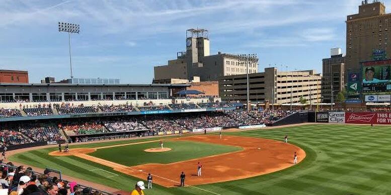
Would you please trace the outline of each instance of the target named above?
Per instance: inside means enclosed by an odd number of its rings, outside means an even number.
[[[345,56],[341,48],[331,49],[330,55],[330,58],[322,60],[322,97],[325,103],[335,102],[338,93],[345,87]]]

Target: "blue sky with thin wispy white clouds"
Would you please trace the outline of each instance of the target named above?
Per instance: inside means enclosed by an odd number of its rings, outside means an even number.
[[[153,66],[186,50],[186,30],[209,31],[211,55],[258,54],[259,72],[315,69],[330,49],[346,47],[346,16],[358,0],[0,0],[0,69],[27,70],[30,83],[70,77],[67,33],[58,22],[80,24],[71,35],[75,78],[151,83]],[[391,0],[385,2],[391,8]],[[387,12],[387,9],[386,9]]]

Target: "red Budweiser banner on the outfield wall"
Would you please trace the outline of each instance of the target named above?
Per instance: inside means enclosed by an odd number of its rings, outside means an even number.
[[[391,124],[391,113],[347,112],[345,113],[345,122],[355,124]]]

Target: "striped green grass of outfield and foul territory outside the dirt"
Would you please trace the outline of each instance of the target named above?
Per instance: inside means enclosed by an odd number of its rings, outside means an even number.
[[[288,135],[290,143],[305,150],[306,158],[295,166],[267,175],[197,187],[221,195],[391,194],[391,188],[388,187],[391,183],[389,132],[391,126],[376,126],[374,130],[370,130],[369,125],[319,124],[224,133],[281,141],[284,135]],[[105,143],[100,143],[100,146],[103,145]],[[41,168],[57,168],[62,170],[63,174],[124,190],[132,188],[137,181],[137,178],[77,157],[48,156],[47,153],[53,150],[56,148],[24,152],[11,157],[11,160]],[[100,172],[90,171],[97,168],[111,171],[119,176],[105,178],[104,175],[100,175]],[[146,195],[213,194],[193,187],[166,188],[157,185],[145,192]]]

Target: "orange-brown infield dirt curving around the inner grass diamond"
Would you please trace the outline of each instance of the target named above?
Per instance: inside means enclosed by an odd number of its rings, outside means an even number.
[[[171,139],[171,141],[175,140],[178,139]],[[293,153],[295,151],[298,153],[298,162],[305,158],[305,152],[301,148],[269,139],[227,135],[220,139],[218,135],[198,135],[181,137],[179,140],[239,146],[243,150],[169,164],[142,164],[137,166],[125,166],[87,154],[99,148],[76,148],[66,154],[51,152],[50,155],[75,155],[140,179],[145,179],[146,175],[151,173],[154,176],[154,183],[166,187],[178,186],[180,183],[179,175],[182,171],[186,174],[185,183],[187,185],[198,185],[243,179],[288,168],[294,165]],[[111,147],[116,147],[116,145]],[[200,177],[197,176],[198,162],[202,164],[202,176]]]

